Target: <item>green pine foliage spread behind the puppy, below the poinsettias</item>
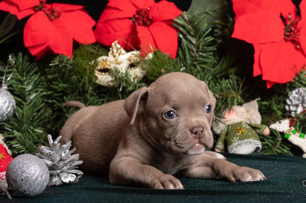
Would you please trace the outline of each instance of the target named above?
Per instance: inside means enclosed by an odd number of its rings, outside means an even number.
[[[99,44],[80,45],[69,58],[52,55],[40,61],[29,61],[26,55],[13,56],[6,75],[9,92],[16,100],[15,113],[0,131],[14,154],[34,153],[40,145],[48,145],[47,134],[57,137],[66,119],[77,111],[66,107],[66,101],[77,100],[85,105],[101,105],[125,99],[131,92],[148,86],[159,76],[171,72],[186,72],[205,81],[217,98],[215,114],[233,105],[241,105],[256,98],[262,114],[262,124],[270,124],[289,117],[285,111],[288,92],[306,87],[305,72],[288,84],[277,84],[266,89],[260,77],[252,76],[254,50],[250,44],[233,39],[234,20],[207,22],[204,13],[182,13],[175,18],[179,31],[177,57],[156,51],[138,65],[147,71],[143,79],[131,77],[118,69],[109,70],[114,78],[112,87],[95,82],[96,58],[108,55],[109,47]],[[3,72],[0,69],[0,79]],[[299,129],[306,131],[305,116],[297,121]],[[271,130],[261,136],[263,154],[287,154],[294,147],[283,134]]]

